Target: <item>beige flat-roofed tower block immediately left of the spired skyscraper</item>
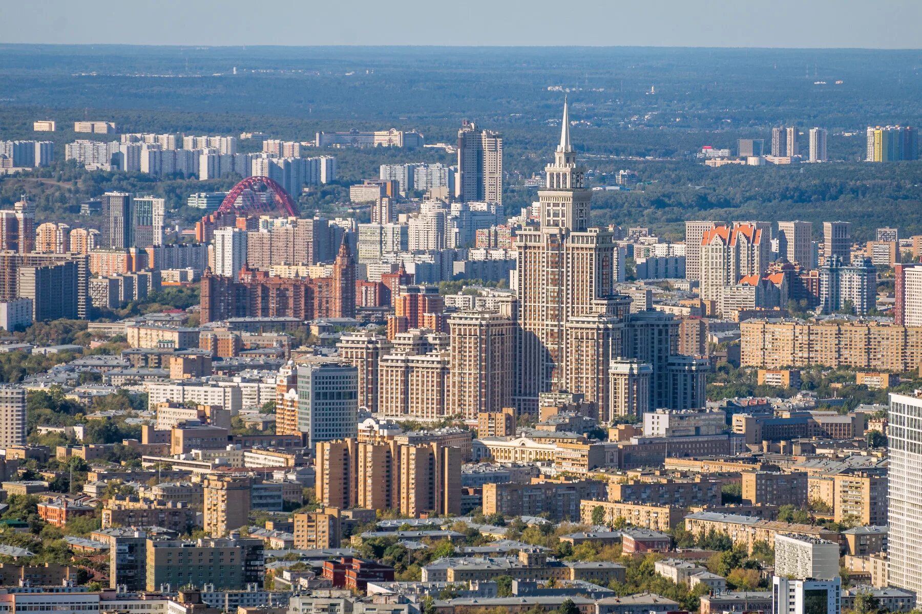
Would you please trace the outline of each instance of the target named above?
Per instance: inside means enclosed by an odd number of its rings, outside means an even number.
[[[451,413],[471,419],[508,407],[515,374],[512,319],[495,312],[461,311],[448,319],[448,330]]]

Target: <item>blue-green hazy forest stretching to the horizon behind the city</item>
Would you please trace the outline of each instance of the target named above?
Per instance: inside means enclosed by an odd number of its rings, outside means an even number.
[[[454,142],[469,119],[504,136],[504,202],[512,213],[536,198],[522,182],[551,157],[560,89],[568,88],[574,145],[593,185],[613,183],[620,168],[637,170],[644,182],[636,191],[597,192],[598,223],[680,237],[681,222],[696,217],[841,218],[859,239],[887,223],[922,233],[922,163],[857,162],[867,125],[922,123],[922,52],[0,45],[0,53],[0,140],[53,138],[59,160],[65,143],[86,137],[70,131],[84,118],[114,121],[119,132],[262,131],[295,140],[393,126],[417,129],[427,143]],[[33,133],[39,119],[56,120],[59,132]],[[705,168],[691,158],[702,145],[736,153],[740,137],[767,146],[772,126],[790,124],[803,132],[804,150],[810,127],[829,130],[833,162]],[[452,162],[440,150],[332,153],[343,184],[376,176],[385,162]],[[646,157],[658,159],[636,159]],[[136,187],[168,196],[189,218],[195,212],[182,210],[184,193],[232,183],[153,184],[62,163],[40,174],[50,181],[0,180],[0,205],[25,190],[38,197],[40,215],[53,217],[93,191]],[[325,210],[342,192],[317,191],[302,205]]]

